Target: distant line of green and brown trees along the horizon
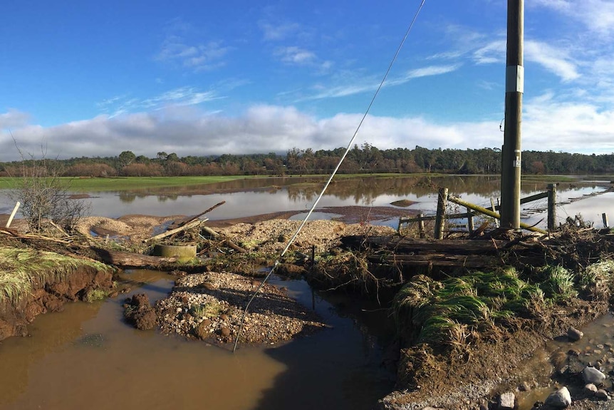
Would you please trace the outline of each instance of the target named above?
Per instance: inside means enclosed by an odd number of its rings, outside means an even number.
[[[209,155],[179,157],[176,153],[157,153],[155,158],[123,151],[115,157],[45,159],[45,164],[61,168],[62,175],[73,177],[110,176],[189,176],[189,175],[306,175],[330,174],[345,148],[305,150],[293,148],[285,154]],[[1,176],[20,176],[36,160],[0,163]],[[354,145],[339,173],[449,173],[499,174],[501,150],[429,149],[416,146],[380,150],[364,143]],[[586,155],[553,151],[523,151],[524,174],[605,174],[614,173],[614,153]]]

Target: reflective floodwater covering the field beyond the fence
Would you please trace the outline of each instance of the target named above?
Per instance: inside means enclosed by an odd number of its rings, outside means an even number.
[[[602,226],[601,214],[614,210],[610,205],[614,193],[598,195],[574,203],[572,198],[602,192],[610,188],[610,176],[599,178],[578,176],[571,183],[560,183],[557,199],[563,205],[557,207],[557,220],[564,222],[581,213],[585,220],[595,222],[595,227]],[[126,192],[90,193],[92,198],[86,201],[90,205],[90,214],[105,217],[122,215],[197,215],[207,208],[226,201],[207,214],[209,220],[231,219],[260,215],[277,211],[307,212],[323,188],[324,178],[252,178],[234,180],[209,185],[189,185],[180,188],[148,188]],[[524,181],[521,185],[521,197],[545,192],[548,180],[541,182]],[[425,215],[435,214],[437,210],[437,190],[439,187],[449,189],[449,194],[462,198],[469,203],[483,207],[491,206],[500,197],[501,179],[498,176],[459,176],[446,175],[437,177],[399,176],[380,177],[363,176],[357,178],[340,178],[333,180],[326,194],[318,204],[322,207],[339,206],[391,206],[397,200],[411,200],[415,205],[405,209],[412,212],[423,211]],[[547,200],[538,200],[521,206],[521,218],[530,225],[546,226]],[[10,213],[14,203],[0,191],[0,213]],[[610,209],[608,209],[610,207]],[[464,208],[458,210],[464,212]],[[333,211],[334,212],[334,211]],[[453,210],[453,212],[456,212]],[[321,217],[326,217],[320,215]],[[318,215],[312,215],[316,219]],[[330,217],[330,216],[328,216]],[[373,221],[397,226],[397,219]],[[614,222],[613,222],[614,223]]]

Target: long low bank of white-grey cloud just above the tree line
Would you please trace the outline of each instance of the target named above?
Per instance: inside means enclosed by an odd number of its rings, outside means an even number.
[[[180,91],[169,98],[183,98]],[[160,151],[185,155],[285,152],[291,148],[332,149],[347,145],[361,114],[316,118],[292,106],[252,106],[240,116],[204,113],[196,106],[171,105],[149,113],[97,116],[53,127],[24,124],[26,113],[9,111],[0,119],[20,118],[11,132],[24,153],[48,158],[115,156],[123,150],[155,157]],[[437,123],[420,116],[368,116],[356,142],[380,149],[420,145],[426,148],[499,148],[501,118],[492,121]],[[614,152],[614,111],[590,103],[557,101],[544,93],[524,103],[522,148],[581,153]],[[6,122],[2,123],[6,125]],[[4,160],[17,160],[12,138],[0,133]]]

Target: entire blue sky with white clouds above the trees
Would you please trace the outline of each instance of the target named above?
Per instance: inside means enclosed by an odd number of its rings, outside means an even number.
[[[0,160],[345,146],[420,2],[11,1]],[[500,148],[506,4],[426,0],[356,142]],[[524,150],[614,152],[614,0],[526,1],[524,66]]]

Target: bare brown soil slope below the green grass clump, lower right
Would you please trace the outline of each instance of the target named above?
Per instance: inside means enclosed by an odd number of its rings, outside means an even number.
[[[608,307],[608,302],[574,299],[544,312],[541,323],[515,320],[516,329],[491,335],[490,340],[473,346],[447,352],[435,352],[427,345],[403,349],[397,369],[398,390],[380,401],[379,408],[479,409],[480,404],[506,391],[517,394],[527,387],[552,386],[555,369],[548,342],[563,337],[571,326],[593,322],[607,313]],[[593,409],[591,405],[578,408]]]

